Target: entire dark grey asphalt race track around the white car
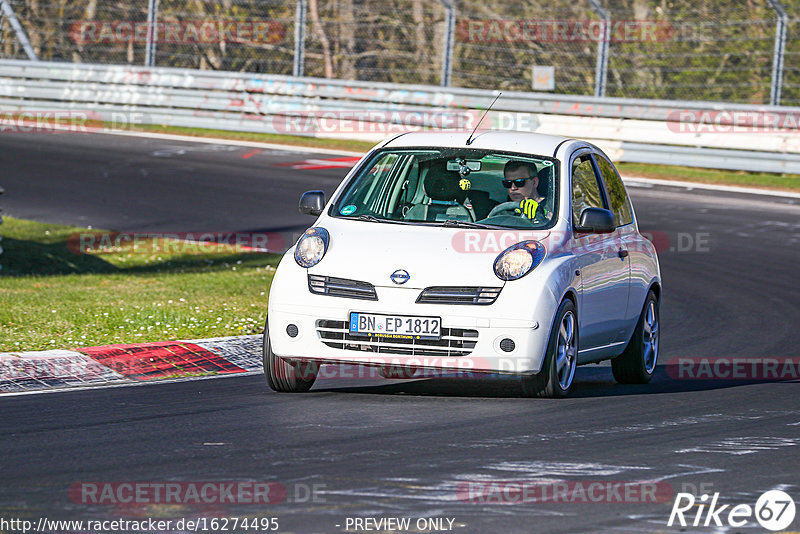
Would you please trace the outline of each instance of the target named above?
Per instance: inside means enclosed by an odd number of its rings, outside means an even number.
[[[103,135],[7,135],[0,157],[10,215],[115,230],[302,229],[312,219],[297,213],[299,194],[330,193],[345,173],[278,166],[331,155]],[[677,492],[753,506],[783,489],[797,501],[797,381],[687,379],[673,364],[798,361],[800,201],[630,191],[640,228],[661,249],[662,364],[650,385],[620,386],[609,367],[586,366],[565,400],[519,398],[502,378],[355,375],[321,379],[305,395],[273,393],[250,375],[7,396],[0,515],[213,513],[277,517],[280,532],[303,533],[354,532],[348,517],[450,518],[465,533],[679,532],[667,526]],[[209,510],[87,504],[69,492],[84,482],[201,481],[272,482],[286,494]],[[547,481],[650,481],[668,497],[513,503],[465,493]],[[754,519],[741,529],[688,528],[725,530],[764,531]]]

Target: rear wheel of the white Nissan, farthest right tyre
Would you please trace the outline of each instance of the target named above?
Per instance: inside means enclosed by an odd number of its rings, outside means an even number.
[[[611,360],[611,371],[620,384],[646,384],[653,378],[661,336],[658,308],[658,298],[650,290],[625,352]]]

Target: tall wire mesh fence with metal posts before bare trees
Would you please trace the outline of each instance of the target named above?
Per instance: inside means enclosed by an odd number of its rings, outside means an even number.
[[[0,58],[800,105],[800,0],[0,0]]]

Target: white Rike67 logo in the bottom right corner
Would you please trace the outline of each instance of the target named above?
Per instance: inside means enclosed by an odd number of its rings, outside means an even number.
[[[667,526],[730,527],[741,528],[756,520],[767,530],[784,530],[792,524],[795,515],[794,500],[786,492],[770,490],[763,493],[755,506],[749,504],[720,505],[719,493],[709,501],[707,494],[697,498],[691,493],[678,493],[669,514]]]

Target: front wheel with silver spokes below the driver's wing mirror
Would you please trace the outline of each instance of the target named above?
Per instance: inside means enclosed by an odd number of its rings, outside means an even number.
[[[569,394],[578,365],[578,313],[567,299],[558,307],[539,374],[522,377],[525,397],[561,398]]]

